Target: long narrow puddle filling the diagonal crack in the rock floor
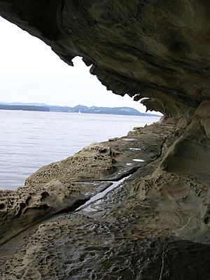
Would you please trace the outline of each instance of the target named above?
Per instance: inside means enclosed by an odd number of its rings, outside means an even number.
[[[90,207],[88,207],[88,205],[92,204],[94,202],[95,204],[99,204],[100,200],[105,197],[105,195],[109,192],[111,192],[111,190],[114,190],[115,188],[118,188],[118,186],[120,186],[123,181],[125,181],[127,178],[129,178],[131,175],[119,180],[119,181],[110,181],[110,183],[112,183],[112,185],[109,188],[106,188],[106,190],[103,190],[103,192],[101,193],[97,193],[97,195],[94,195],[93,197],[90,198],[90,200],[87,200],[87,202],[85,202],[85,204],[81,205],[80,207],[78,207],[75,211],[78,211],[80,209],[84,209],[84,211],[92,211],[92,209]]]

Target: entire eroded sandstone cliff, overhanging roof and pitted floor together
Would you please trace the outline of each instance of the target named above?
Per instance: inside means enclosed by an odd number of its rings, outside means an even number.
[[[0,15],[164,114],[1,191],[1,278],[208,279],[209,2],[5,0]]]

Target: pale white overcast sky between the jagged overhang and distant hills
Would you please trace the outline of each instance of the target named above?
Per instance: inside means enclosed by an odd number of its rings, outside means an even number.
[[[0,17],[0,101],[145,107],[107,91],[79,57],[71,67],[41,40]]]

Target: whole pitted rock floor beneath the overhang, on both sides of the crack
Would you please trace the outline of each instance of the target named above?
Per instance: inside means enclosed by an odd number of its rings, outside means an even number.
[[[137,127],[1,191],[1,279],[207,279],[208,190],[160,168],[180,133]]]

